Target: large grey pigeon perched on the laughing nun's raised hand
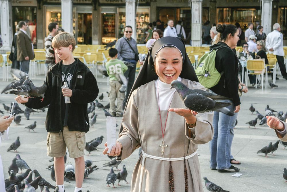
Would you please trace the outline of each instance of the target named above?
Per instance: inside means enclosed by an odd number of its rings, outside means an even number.
[[[234,112],[226,108],[232,102],[217,102],[216,100],[226,100],[230,98],[223,97],[214,93],[206,92],[200,89],[189,89],[182,82],[174,80],[171,83],[171,89],[175,88],[185,106],[198,113],[209,111],[219,111],[226,115],[233,116]]]

